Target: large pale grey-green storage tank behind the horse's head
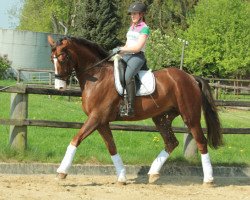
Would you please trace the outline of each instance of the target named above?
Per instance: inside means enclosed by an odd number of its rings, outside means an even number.
[[[0,55],[8,55],[14,69],[52,69],[48,35],[55,40],[63,37],[51,33],[0,29]],[[24,72],[23,75],[28,76]]]

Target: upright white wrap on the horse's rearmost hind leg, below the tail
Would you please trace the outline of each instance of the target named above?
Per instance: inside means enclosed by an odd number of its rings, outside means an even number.
[[[204,174],[203,181],[205,183],[213,182],[213,169],[210,162],[209,154],[201,154],[202,169]]]

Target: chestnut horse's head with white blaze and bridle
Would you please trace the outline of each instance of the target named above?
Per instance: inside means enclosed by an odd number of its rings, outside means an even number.
[[[55,42],[51,36],[48,36],[48,42],[51,46],[51,61],[55,66],[55,88],[66,90],[67,81],[76,65],[70,52],[71,42],[67,38]]]

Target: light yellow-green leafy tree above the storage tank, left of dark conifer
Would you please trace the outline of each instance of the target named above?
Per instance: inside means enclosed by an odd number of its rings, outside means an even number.
[[[25,0],[20,12],[19,30],[64,34],[71,31],[79,0]]]

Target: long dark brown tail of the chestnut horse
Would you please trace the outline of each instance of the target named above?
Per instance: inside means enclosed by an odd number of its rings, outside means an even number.
[[[207,139],[211,148],[218,148],[223,144],[221,125],[215,101],[211,93],[209,84],[201,77],[195,77],[195,80],[199,83],[202,94],[202,109],[205,116],[207,125]]]

